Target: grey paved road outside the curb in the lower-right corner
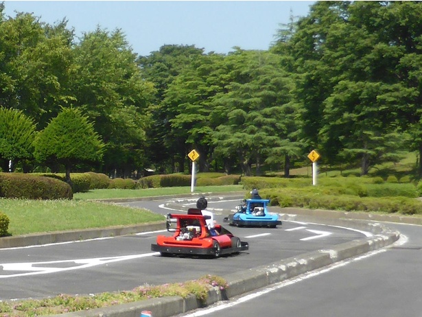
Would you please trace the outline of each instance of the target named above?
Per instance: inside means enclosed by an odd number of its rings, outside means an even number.
[[[408,241],[180,316],[421,317],[422,226],[387,225]]]

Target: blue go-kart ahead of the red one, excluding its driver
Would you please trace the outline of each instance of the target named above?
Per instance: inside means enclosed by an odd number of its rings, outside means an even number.
[[[268,212],[268,199],[247,199],[244,204],[237,206],[236,213],[224,218],[231,226],[268,226],[275,228],[281,224],[279,215]]]

